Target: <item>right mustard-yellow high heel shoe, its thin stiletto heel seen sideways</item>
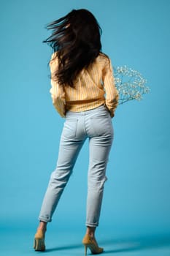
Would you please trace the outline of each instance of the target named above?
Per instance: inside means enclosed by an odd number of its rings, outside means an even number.
[[[101,252],[104,252],[104,249],[98,247],[94,238],[91,238],[88,234],[82,239],[82,244],[85,246],[85,255],[87,255],[87,249],[89,248],[93,255],[98,255]]]

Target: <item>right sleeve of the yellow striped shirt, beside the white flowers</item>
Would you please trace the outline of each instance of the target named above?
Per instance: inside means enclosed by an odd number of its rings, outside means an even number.
[[[104,66],[103,69],[103,83],[106,93],[105,104],[110,112],[110,115],[113,117],[115,115],[115,109],[118,105],[119,94],[115,87],[115,79],[110,59],[107,60],[107,64]]]

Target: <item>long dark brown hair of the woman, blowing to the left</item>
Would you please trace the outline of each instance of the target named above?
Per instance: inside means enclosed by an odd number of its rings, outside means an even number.
[[[91,12],[80,9],[48,24],[47,29],[53,32],[43,42],[57,52],[54,58],[58,58],[53,79],[62,86],[74,87],[80,71],[87,69],[101,52],[101,27]]]

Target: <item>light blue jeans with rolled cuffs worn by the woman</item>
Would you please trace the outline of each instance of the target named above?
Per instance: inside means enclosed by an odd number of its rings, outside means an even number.
[[[51,222],[63,189],[72,174],[77,156],[87,138],[89,138],[90,159],[86,226],[98,226],[104,182],[107,180],[106,167],[113,140],[112,119],[104,105],[85,112],[66,113],[57,166],[50,177],[39,220]]]

